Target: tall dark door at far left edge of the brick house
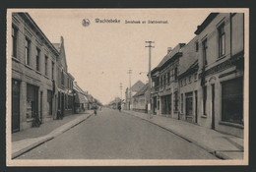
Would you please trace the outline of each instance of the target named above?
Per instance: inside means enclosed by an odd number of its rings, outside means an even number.
[[[12,133],[20,131],[20,84],[12,80]]]

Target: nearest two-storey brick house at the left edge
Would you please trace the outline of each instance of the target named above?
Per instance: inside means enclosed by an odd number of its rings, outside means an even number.
[[[56,59],[58,50],[28,13],[12,14],[12,132],[30,128],[56,115]]]

